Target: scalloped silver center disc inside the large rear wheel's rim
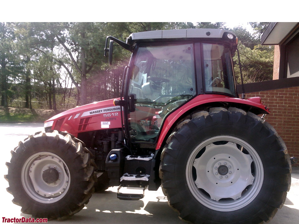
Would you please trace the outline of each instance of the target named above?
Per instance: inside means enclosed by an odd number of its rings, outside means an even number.
[[[194,160],[197,173],[195,184],[214,201],[222,198],[239,199],[254,180],[251,162],[251,156],[241,152],[234,142],[209,144],[202,156]]]

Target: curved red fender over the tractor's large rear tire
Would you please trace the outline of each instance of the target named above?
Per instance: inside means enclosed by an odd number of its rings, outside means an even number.
[[[245,99],[232,98],[223,95],[206,94],[194,97],[186,104],[179,107],[173,113],[169,114],[163,122],[162,130],[159,135],[159,139],[156,145],[156,150],[160,149],[163,142],[168,138],[169,131],[172,130],[173,125],[182,118],[183,115],[187,115],[190,111],[196,110],[198,107],[205,107],[205,105],[215,104],[222,102],[228,105],[233,105],[240,108],[248,108],[249,111],[255,114],[269,114],[268,107],[264,106],[260,97],[252,97]]]

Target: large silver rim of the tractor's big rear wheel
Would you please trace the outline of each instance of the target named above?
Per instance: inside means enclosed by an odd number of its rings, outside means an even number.
[[[186,180],[202,205],[216,211],[235,211],[247,206],[259,194],[263,164],[254,148],[242,139],[216,136],[192,151],[187,161]]]

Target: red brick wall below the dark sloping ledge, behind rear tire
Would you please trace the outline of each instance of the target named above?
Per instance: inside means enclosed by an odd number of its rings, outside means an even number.
[[[282,137],[290,156],[299,158],[299,86],[246,93],[246,98],[254,96],[269,107],[266,121]]]

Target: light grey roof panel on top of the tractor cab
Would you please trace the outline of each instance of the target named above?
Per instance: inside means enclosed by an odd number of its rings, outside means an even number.
[[[218,29],[181,29],[181,30],[154,30],[140,33],[132,33],[132,40],[142,39],[167,39],[167,38],[222,38],[228,30]],[[235,34],[234,34],[235,35]]]

